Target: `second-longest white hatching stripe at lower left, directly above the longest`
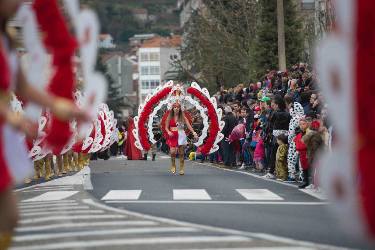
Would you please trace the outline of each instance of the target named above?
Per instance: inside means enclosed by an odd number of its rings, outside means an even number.
[[[50,233],[50,234],[29,234],[22,236],[14,236],[13,241],[35,241],[52,239],[52,238],[66,238],[66,237],[80,237],[80,236],[93,236],[93,235],[115,235],[115,234],[152,234],[163,232],[197,232],[200,231],[196,228],[190,227],[151,227],[151,228],[120,228],[120,229],[105,229],[105,230],[90,230],[90,231],[77,231],[77,232],[63,232],[63,233]]]

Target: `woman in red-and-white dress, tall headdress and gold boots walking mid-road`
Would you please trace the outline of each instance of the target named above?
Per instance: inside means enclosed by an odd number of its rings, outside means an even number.
[[[195,140],[198,141],[198,135],[193,130],[189,120],[184,114],[185,93],[180,85],[174,85],[168,96],[168,110],[171,110],[165,123],[166,143],[171,150],[172,173],[176,173],[175,153],[178,147],[180,155],[180,174],[184,174],[184,149],[187,144],[184,125],[192,132]]]

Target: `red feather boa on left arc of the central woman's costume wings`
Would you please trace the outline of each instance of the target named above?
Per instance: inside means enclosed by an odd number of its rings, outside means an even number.
[[[145,122],[147,121],[147,117],[150,116],[152,112],[152,108],[154,107],[155,104],[159,103],[159,101],[162,98],[165,98],[169,92],[171,92],[172,88],[165,88],[160,93],[152,97],[147,104],[144,106],[143,111],[141,112],[141,115],[139,116],[139,121],[138,121],[138,131],[139,134],[141,135],[139,137],[141,145],[145,151],[148,151],[150,149],[150,143],[148,143],[147,139],[147,130],[144,126]],[[128,131],[129,132],[129,131]],[[132,132],[132,131],[130,131]]]

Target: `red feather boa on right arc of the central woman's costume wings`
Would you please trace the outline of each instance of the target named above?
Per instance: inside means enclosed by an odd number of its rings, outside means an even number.
[[[195,97],[197,97],[202,102],[202,104],[206,106],[208,109],[208,116],[211,120],[210,135],[207,138],[205,145],[201,149],[202,154],[207,155],[213,147],[213,143],[216,140],[217,133],[219,132],[219,125],[217,124],[216,120],[216,112],[214,110],[212,103],[208,101],[198,90],[194,88],[188,88],[186,93],[195,95]]]

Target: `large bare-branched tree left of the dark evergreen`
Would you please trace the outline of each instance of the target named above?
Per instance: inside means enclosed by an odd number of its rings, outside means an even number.
[[[251,70],[251,42],[258,20],[257,0],[203,0],[204,9],[190,14],[187,33],[175,62],[182,82],[195,81],[209,90],[246,83]]]

